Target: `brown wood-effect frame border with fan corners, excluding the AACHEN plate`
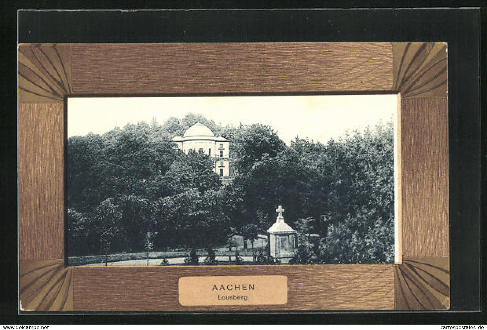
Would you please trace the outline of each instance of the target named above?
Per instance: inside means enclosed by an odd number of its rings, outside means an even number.
[[[412,310],[450,307],[447,45],[194,43],[19,45],[19,308],[194,311],[187,275],[286,275],[281,306],[199,311]],[[401,233],[396,265],[66,267],[67,95],[401,94]]]

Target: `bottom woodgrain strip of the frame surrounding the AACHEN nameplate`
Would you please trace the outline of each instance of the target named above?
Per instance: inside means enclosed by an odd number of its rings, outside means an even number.
[[[75,267],[75,311],[341,310],[394,308],[393,265]],[[182,276],[284,275],[286,305],[181,306]]]

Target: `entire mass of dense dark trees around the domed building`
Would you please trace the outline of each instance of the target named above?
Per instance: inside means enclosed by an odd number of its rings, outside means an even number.
[[[222,185],[208,156],[171,142],[195,122],[229,139],[231,183]],[[148,251],[148,233],[150,249],[211,250],[236,233],[265,234],[283,205],[298,231],[294,262],[393,261],[392,123],[286,146],[269,126],[188,114],[72,137],[67,166],[70,255]]]

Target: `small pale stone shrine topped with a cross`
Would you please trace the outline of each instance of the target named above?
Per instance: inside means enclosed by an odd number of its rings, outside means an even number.
[[[281,263],[289,263],[294,258],[294,250],[297,246],[296,230],[284,221],[282,216],[284,208],[281,205],[276,208],[276,212],[278,213],[276,222],[267,230],[270,255],[272,258],[278,258]]]

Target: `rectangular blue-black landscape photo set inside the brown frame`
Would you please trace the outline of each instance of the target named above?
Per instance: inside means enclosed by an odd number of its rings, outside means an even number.
[[[397,100],[68,98],[68,265],[393,263]]]

